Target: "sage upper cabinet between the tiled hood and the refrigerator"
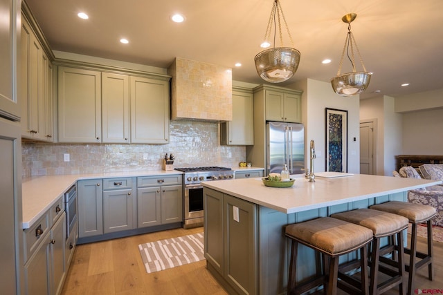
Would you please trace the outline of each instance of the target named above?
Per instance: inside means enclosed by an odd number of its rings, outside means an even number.
[[[254,144],[252,89],[233,87],[233,120],[220,123],[220,142],[225,145]]]

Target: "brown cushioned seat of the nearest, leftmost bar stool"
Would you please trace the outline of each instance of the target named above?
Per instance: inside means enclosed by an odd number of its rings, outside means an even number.
[[[332,256],[359,249],[372,240],[370,229],[329,217],[288,225],[286,235]]]

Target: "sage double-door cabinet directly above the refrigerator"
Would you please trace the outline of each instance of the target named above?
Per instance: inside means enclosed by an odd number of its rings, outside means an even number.
[[[254,97],[264,97],[266,121],[301,122],[301,91],[269,85],[257,86],[253,91]]]

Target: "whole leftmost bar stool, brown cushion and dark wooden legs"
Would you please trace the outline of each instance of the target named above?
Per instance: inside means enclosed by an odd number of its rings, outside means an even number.
[[[324,217],[288,225],[286,236],[292,240],[289,265],[288,294],[301,294],[323,285],[327,294],[337,294],[337,287],[350,294],[368,294],[368,245],[372,231],[350,222]],[[322,272],[316,278],[297,285],[298,243],[318,251],[322,256]],[[345,274],[338,274],[338,258],[343,254],[360,250],[361,282],[347,283]],[[329,258],[330,261],[327,261]],[[329,267],[329,273],[327,269]],[[342,280],[338,281],[338,277]]]

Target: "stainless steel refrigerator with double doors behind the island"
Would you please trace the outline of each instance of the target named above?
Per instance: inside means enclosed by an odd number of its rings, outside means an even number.
[[[280,173],[287,164],[290,174],[305,171],[305,127],[301,123],[266,123],[266,175]]]

